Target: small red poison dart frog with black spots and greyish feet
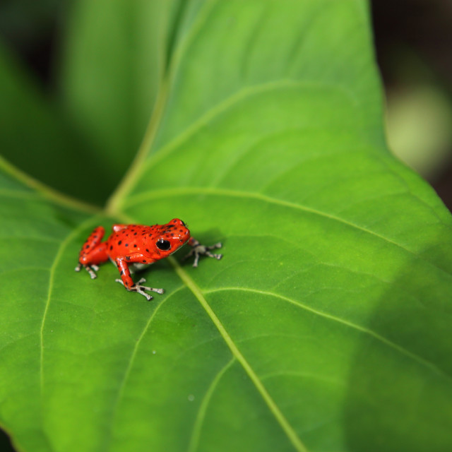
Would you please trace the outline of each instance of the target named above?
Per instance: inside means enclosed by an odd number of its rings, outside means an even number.
[[[138,292],[148,300],[153,297],[145,290],[158,294],[162,294],[164,290],[141,285],[145,283],[144,278],[141,278],[138,283],[133,283],[131,278],[133,270],[141,270],[173,254],[187,242],[191,246],[191,251],[185,258],[194,256],[194,267],[198,266],[199,256],[222,258],[222,254],[210,253],[211,249],[221,248],[221,243],[212,246],[201,245],[191,237],[186,224],[179,218],[174,218],[166,225],[113,225],[112,230],[112,234],[105,242],[102,242],[105,229],[98,226],[93,230],[82,246],[76,271],[80,271],[83,267],[92,279],[97,278],[95,272],[99,270],[98,264],[109,259],[117,266],[121,276],[121,279],[116,281],[124,285],[127,290]]]

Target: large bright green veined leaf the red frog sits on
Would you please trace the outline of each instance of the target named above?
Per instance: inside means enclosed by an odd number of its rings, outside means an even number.
[[[451,450],[451,215],[386,150],[367,4],[172,11],[105,210],[1,164],[2,425],[24,451]],[[96,225],[174,217],[222,261],[156,263],[150,303],[73,273]]]

